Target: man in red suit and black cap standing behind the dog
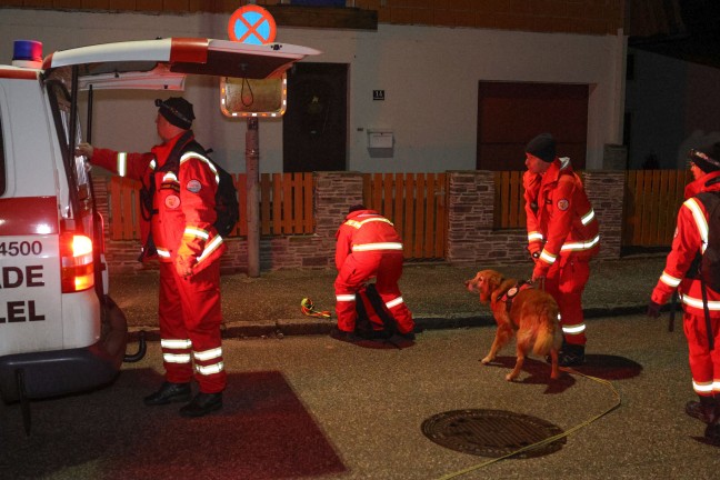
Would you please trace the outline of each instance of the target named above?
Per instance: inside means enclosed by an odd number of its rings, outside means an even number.
[[[559,364],[579,366],[584,363],[587,343],[582,292],[590,278],[589,261],[599,250],[598,220],[570,159],[557,157],[550,133],[528,143],[526,167],[522,183],[532,280],[544,284],[558,302],[563,334]]]

